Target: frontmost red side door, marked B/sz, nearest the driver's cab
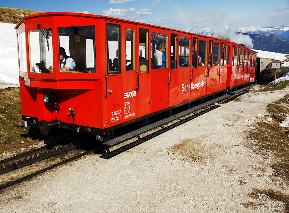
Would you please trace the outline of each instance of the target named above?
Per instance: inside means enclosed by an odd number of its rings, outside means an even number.
[[[121,67],[121,26],[106,23],[107,74],[105,74],[107,122],[115,124],[123,120],[123,85]],[[104,121],[105,122],[105,121]]]

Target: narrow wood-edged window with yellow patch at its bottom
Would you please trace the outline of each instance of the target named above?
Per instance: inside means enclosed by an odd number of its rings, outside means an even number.
[[[140,72],[148,72],[149,71],[149,30],[147,29],[139,29],[139,50],[142,52],[142,56],[140,56],[139,66]]]

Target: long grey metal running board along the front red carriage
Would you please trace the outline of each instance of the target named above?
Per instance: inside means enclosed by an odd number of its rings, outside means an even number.
[[[221,96],[221,97],[219,97],[219,98],[215,98],[215,99],[213,99],[213,100],[207,101],[207,102],[205,102],[205,103],[203,103],[203,104],[200,104],[200,105],[198,105],[198,106],[196,106],[196,107],[192,107],[192,108],[190,108],[190,109],[187,109],[186,111],[183,111],[183,112],[180,112],[180,113],[178,113],[178,114],[172,115],[171,117],[164,118],[164,119],[162,119],[162,120],[160,120],[160,121],[157,121],[157,122],[155,122],[155,123],[153,123],[153,124],[149,124],[149,125],[144,126],[144,127],[142,127],[142,128],[136,129],[136,130],[134,130],[134,131],[132,131],[132,132],[129,132],[129,133],[125,134],[125,135],[121,135],[121,136],[116,137],[116,138],[114,138],[114,139],[105,141],[105,142],[102,143],[102,145],[103,145],[103,146],[109,146],[109,147],[115,146],[115,145],[120,144],[120,143],[122,143],[122,142],[125,142],[125,141],[127,141],[127,140],[129,140],[129,139],[131,139],[131,138],[133,138],[133,137],[136,137],[136,136],[138,136],[138,135],[141,135],[142,133],[145,133],[145,132],[150,131],[150,130],[152,130],[152,129],[154,129],[154,128],[157,128],[157,127],[159,127],[159,126],[162,126],[162,125],[164,125],[164,124],[167,124],[167,123],[169,123],[169,122],[171,122],[171,121],[173,121],[173,120],[176,120],[176,119],[178,119],[178,118],[180,118],[180,117],[184,117],[185,115],[188,115],[188,114],[190,114],[190,113],[192,113],[192,112],[194,112],[194,111],[197,111],[197,110],[199,110],[199,109],[202,109],[202,108],[204,108],[204,107],[207,107],[207,106],[209,106],[209,105],[211,105],[211,104],[213,104],[213,103],[216,103],[216,102],[218,102],[218,101],[221,101],[221,100],[223,100],[223,99],[225,99],[225,98],[228,98],[228,97],[230,97],[230,96],[231,96],[231,95],[228,95],[228,94],[227,94],[227,95]]]

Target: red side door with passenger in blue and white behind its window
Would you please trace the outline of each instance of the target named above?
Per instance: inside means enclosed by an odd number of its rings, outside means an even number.
[[[151,112],[168,108],[169,31],[151,28]]]

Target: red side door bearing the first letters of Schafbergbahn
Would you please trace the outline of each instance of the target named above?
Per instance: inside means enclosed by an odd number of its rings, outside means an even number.
[[[190,90],[191,87],[191,38],[190,35],[179,33],[178,40],[178,55],[179,55],[179,63],[178,63],[178,104],[189,101],[190,100]]]

